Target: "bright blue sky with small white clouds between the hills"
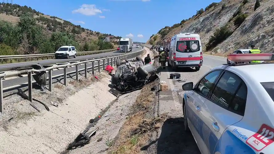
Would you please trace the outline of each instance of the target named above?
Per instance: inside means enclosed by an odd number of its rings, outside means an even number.
[[[132,38],[133,42],[146,42],[161,28],[192,17],[212,2],[220,0],[13,0],[93,31]]]

